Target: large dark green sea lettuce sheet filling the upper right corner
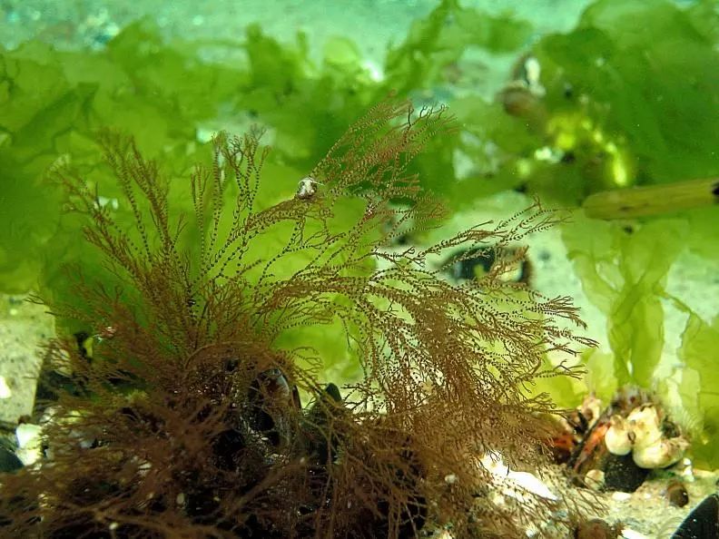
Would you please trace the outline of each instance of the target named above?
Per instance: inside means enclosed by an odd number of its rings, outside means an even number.
[[[719,172],[719,14],[711,4],[600,0],[575,30],[534,50],[547,107],[581,112],[595,133],[624,145],[637,183]]]

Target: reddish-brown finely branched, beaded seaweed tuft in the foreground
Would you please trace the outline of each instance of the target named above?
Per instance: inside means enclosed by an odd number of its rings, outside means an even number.
[[[410,163],[450,129],[444,109],[379,103],[306,190],[261,211],[269,150],[257,133],[219,134],[210,166],[192,173],[184,220],[156,164],[105,132],[130,227],[57,166],[108,274],[81,283],[84,307],[53,307],[99,337],[92,361],[75,338],[51,345],[74,390],[45,426],[44,462],[2,477],[0,534],[369,539],[451,523],[457,538],[520,537],[558,518],[556,502],[499,493],[479,461],[545,462],[540,417],[553,407],[528,387],[576,376],[543,360],[590,344],[559,323],[581,324],[576,309],[499,279],[501,268],[457,284],[426,264],[502,249],[558,218],[534,206],[427,249],[387,249],[408,222],[421,230],[443,215]],[[270,231],[286,241],[263,243]],[[308,362],[312,343],[277,344],[288,328],[338,319],[364,373],[341,395],[316,368],[336,358]]]

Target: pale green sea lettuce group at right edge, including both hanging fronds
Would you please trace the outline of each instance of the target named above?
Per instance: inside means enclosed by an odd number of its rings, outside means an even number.
[[[626,230],[616,223],[577,217],[563,236],[587,297],[607,320],[611,352],[586,352],[587,386],[603,398],[611,398],[626,384],[655,390],[678,405],[675,419],[693,436],[695,463],[719,466],[719,317],[705,322],[665,288],[668,271],[692,237],[687,221],[651,220],[637,230]],[[656,376],[666,346],[666,300],[688,316],[676,350],[679,362],[673,366],[678,373],[669,373],[679,374],[676,380]]]

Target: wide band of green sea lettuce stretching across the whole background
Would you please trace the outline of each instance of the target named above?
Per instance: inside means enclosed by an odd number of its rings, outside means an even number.
[[[627,27],[638,19],[639,31]],[[576,204],[589,191],[616,187],[617,174],[630,183],[717,174],[718,21],[708,1],[680,8],[601,0],[576,29],[529,46],[527,22],[443,0],[389,47],[383,78],[346,37],[333,38],[318,63],[310,59],[306,35],[281,44],[257,25],[241,43],[168,44],[143,20],[102,51],[61,52],[39,42],[4,51],[3,289],[42,288],[44,268],[77,260],[66,250],[76,240],[72,227],[58,228],[57,196],[42,176],[63,155],[87,171],[100,166],[94,131],[103,125],[132,132],[145,154],[179,176],[207,152],[210,132],[256,122],[269,128],[278,173],[301,177],[357,111],[395,90],[419,103],[449,101],[458,116],[461,130],[433,142],[412,165],[427,179],[423,185],[453,209],[512,188]],[[472,83],[483,68],[468,56],[519,55],[527,46],[542,66],[544,129],[528,129]],[[538,158],[546,147],[571,159]],[[290,183],[282,183],[280,194]],[[711,232],[714,217],[695,223]],[[62,247],[46,250],[51,244]],[[692,244],[703,249],[706,241]]]

